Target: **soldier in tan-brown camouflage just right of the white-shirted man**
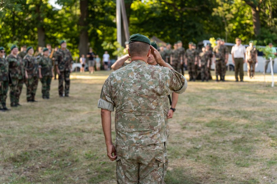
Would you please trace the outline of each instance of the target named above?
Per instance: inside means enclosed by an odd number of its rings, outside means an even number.
[[[255,64],[258,63],[257,60],[258,53],[255,47],[253,47],[253,41],[249,42],[249,46],[246,48],[245,60],[247,62],[247,74],[250,78],[255,75]]]

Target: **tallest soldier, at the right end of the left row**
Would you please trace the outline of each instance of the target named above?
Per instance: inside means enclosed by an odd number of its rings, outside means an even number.
[[[72,55],[66,48],[66,41],[60,42],[61,48],[55,55],[55,66],[59,75],[59,95],[69,97],[70,72],[73,64]],[[63,81],[65,81],[65,94],[63,94]]]

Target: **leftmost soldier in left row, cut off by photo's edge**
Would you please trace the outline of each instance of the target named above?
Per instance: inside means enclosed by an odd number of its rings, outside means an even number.
[[[9,110],[6,107],[6,99],[9,88],[9,63],[3,58],[5,55],[4,47],[0,47],[0,110]]]

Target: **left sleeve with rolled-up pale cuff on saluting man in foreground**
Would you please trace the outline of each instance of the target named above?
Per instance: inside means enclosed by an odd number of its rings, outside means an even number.
[[[105,81],[100,99],[98,100],[98,108],[106,109],[108,111],[114,111],[114,102],[112,98],[112,90],[110,85],[110,76]]]

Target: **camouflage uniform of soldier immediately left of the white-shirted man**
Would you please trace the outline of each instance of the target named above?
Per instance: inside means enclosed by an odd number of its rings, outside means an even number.
[[[226,64],[225,64],[225,48],[223,45],[216,45],[213,48],[213,52],[215,53],[215,68],[216,68],[216,78],[218,79],[218,75],[220,79],[225,77],[224,71],[226,72]]]

